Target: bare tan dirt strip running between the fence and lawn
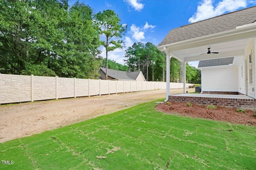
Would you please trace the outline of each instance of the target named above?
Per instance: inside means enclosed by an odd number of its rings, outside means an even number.
[[[187,89],[194,91],[194,89]],[[171,90],[172,94],[183,90]],[[166,90],[48,100],[0,106],[0,143],[165,98]]]

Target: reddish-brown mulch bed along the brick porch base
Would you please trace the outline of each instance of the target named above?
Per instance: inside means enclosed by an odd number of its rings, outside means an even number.
[[[187,107],[186,103],[182,102],[171,102],[171,106],[166,105],[166,103],[158,104],[156,109],[173,115],[256,126],[256,116],[254,116],[254,111],[252,110],[245,110],[246,113],[241,113],[236,112],[235,108],[220,106],[217,106],[216,110],[207,109],[205,105],[197,104]]]

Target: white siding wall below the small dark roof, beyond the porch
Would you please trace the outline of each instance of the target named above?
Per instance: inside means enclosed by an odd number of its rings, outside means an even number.
[[[202,91],[237,92],[238,69],[232,66],[202,68]]]

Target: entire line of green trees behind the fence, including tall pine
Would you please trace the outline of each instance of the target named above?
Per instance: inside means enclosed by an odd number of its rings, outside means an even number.
[[[165,55],[152,43],[134,43],[125,65],[108,60],[122,48],[127,25],[112,10],[93,14],[90,6],[68,0],[0,0],[0,72],[37,76],[98,78],[100,66],[141,70],[148,81],[165,81]],[[100,36],[104,39],[100,39]],[[106,59],[99,47],[106,49]],[[180,62],[171,58],[171,80],[179,82]],[[187,64],[188,82],[199,71]]]

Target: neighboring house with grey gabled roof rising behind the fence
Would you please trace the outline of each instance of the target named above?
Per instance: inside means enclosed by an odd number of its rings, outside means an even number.
[[[106,80],[106,68],[98,69],[100,79]],[[126,72],[113,70],[108,68],[108,80],[131,80],[131,81],[146,81],[141,71]]]

